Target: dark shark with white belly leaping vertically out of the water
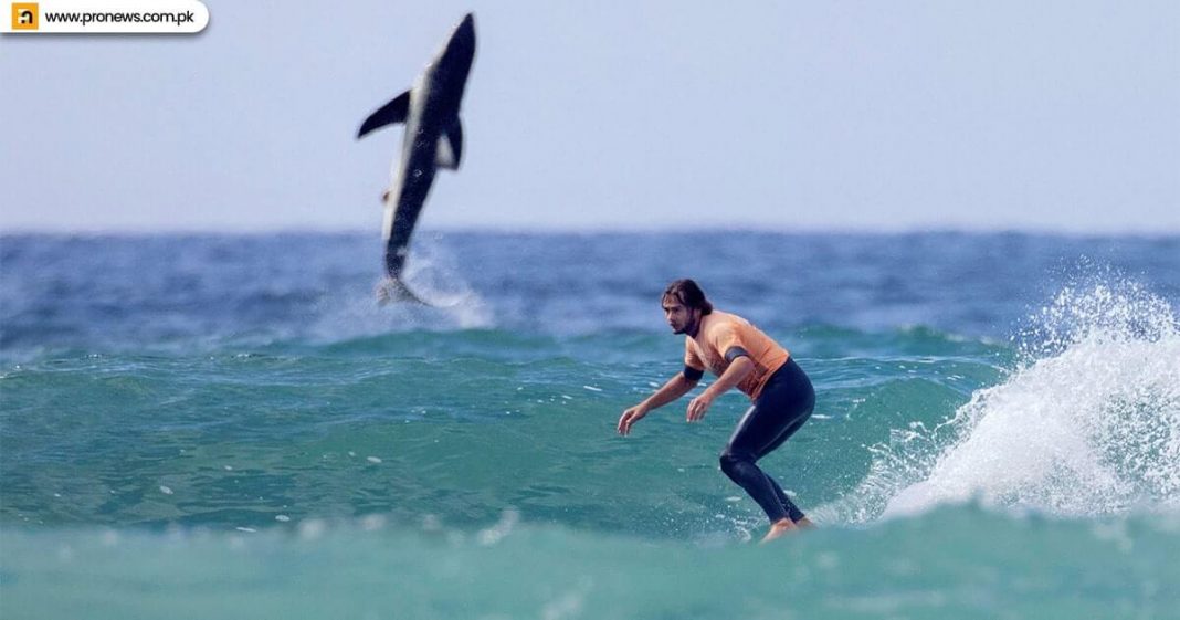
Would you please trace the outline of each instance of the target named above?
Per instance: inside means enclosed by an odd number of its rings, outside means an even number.
[[[457,170],[463,157],[463,125],[459,104],[476,57],[476,20],[471,13],[454,27],[451,37],[406,92],[369,115],[356,138],[394,123],[406,124],[401,158],[393,162],[393,184],[385,202],[385,272],[378,287],[381,301],[418,298],[401,279],[409,253],[409,237],[439,168]]]

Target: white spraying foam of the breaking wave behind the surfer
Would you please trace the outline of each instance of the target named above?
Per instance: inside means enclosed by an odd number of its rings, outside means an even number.
[[[1180,326],[1132,283],[1069,287],[1020,341],[1021,363],[935,429],[873,446],[866,521],[943,503],[1096,516],[1180,508]]]

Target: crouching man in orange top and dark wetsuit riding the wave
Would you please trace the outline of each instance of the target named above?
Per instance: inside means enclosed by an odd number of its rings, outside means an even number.
[[[749,321],[713,309],[693,280],[668,285],[660,304],[673,332],[686,335],[684,370],[624,411],[618,418],[618,433],[629,435],[631,426],[651,410],[687,394],[708,368],[717,380],[688,404],[687,418],[690,423],[701,420],[713,402],[733,387],[753,402],[721,452],[721,471],[745,489],[771,520],[762,542],[812,527],[782,487],[758,466],[758,461],[782,445],[815,409],[815,391],[807,374],[786,348]]]

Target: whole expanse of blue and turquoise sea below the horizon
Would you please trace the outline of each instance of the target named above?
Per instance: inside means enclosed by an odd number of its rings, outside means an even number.
[[[0,236],[0,618],[1180,618],[1180,237],[420,231],[438,308],[380,246]],[[815,530],[739,393],[615,432],[686,276],[811,376]]]

